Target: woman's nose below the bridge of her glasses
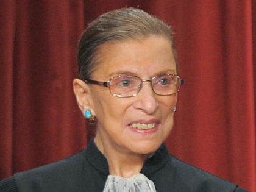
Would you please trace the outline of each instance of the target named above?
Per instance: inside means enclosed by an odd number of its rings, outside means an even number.
[[[140,91],[135,97],[135,108],[143,110],[148,115],[152,115],[158,108],[157,95],[151,87],[151,82],[143,82]]]

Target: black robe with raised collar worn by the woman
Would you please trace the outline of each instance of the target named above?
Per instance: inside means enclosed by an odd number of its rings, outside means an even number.
[[[141,170],[158,192],[165,191],[246,191],[208,172],[188,165],[169,154],[162,144]],[[91,140],[87,149],[59,162],[14,174],[0,182],[0,191],[103,191],[108,163]]]

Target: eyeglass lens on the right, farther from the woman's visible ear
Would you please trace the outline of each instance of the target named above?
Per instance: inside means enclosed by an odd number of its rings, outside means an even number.
[[[152,79],[152,87],[155,94],[170,95],[177,93],[180,88],[180,78],[172,74],[164,74]]]

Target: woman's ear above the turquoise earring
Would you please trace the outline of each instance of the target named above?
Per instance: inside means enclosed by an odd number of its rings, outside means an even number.
[[[77,104],[84,114],[85,110],[91,109],[90,87],[80,79],[73,80],[73,90]]]

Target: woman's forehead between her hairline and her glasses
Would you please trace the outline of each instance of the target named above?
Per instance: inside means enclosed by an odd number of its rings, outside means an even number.
[[[176,73],[171,43],[164,37],[151,36],[143,40],[112,41],[104,43],[97,52],[94,73]],[[101,74],[103,75],[103,74]]]

